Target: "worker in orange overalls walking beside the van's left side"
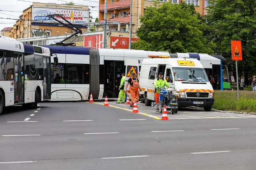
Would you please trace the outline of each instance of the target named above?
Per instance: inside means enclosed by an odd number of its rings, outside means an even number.
[[[131,94],[131,98],[132,98],[130,101],[130,106],[133,107],[134,102],[139,101],[138,89],[140,89],[140,91],[141,91],[139,80],[136,77],[135,73],[132,73],[132,78],[128,79],[128,82],[124,88],[124,92],[127,91],[128,84],[130,84],[130,94]]]

